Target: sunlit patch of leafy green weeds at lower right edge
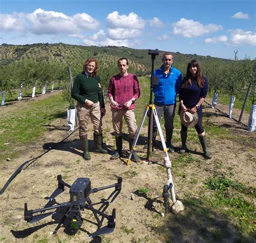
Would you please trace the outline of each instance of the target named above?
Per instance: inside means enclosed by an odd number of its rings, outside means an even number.
[[[214,191],[210,197],[203,197],[208,206],[232,218],[242,232],[256,232],[256,207],[251,202],[251,199],[255,198],[255,188],[247,188],[237,180],[226,178],[224,175],[208,178],[205,185]],[[231,191],[227,192],[228,188]]]

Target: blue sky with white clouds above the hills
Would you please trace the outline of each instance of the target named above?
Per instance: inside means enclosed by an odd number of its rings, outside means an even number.
[[[0,44],[127,46],[256,58],[254,0],[0,0]]]

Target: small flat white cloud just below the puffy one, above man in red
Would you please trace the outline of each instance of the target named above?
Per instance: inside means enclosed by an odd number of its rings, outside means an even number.
[[[112,40],[123,40],[123,39],[133,39],[140,35],[141,31],[137,29],[108,29],[108,37]]]

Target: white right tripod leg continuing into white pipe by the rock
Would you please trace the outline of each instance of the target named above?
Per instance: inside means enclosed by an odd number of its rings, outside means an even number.
[[[163,131],[161,129],[160,122],[158,120],[156,109],[153,107],[152,110],[153,110],[154,119],[156,119],[157,129],[159,131],[159,136],[161,138],[161,143],[163,145],[164,153],[165,153],[164,165],[165,165],[165,168],[167,170],[167,178],[168,178],[168,180],[165,184],[170,187],[172,202],[175,203],[176,202],[176,197],[175,197],[175,192],[174,192],[174,185],[173,185],[172,173],[171,173],[171,162],[170,162],[170,158],[169,158],[169,155],[168,155],[168,149],[167,149],[166,144],[165,144]]]

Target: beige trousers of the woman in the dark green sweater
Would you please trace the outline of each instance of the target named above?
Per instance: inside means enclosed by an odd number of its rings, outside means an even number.
[[[87,137],[89,119],[93,124],[94,133],[102,134],[102,117],[100,115],[99,102],[96,106],[87,106],[78,102],[77,117],[79,123],[79,137]]]

